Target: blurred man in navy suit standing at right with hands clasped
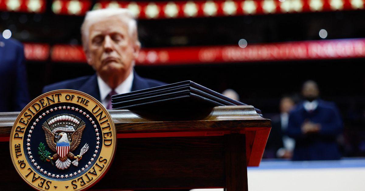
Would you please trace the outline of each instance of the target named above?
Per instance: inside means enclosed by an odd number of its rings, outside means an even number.
[[[334,103],[319,99],[315,81],[303,84],[304,101],[289,114],[288,135],[295,139],[292,160],[338,160],[337,137],[343,124]]]

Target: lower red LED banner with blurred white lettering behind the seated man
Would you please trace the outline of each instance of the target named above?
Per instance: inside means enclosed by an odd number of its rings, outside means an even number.
[[[46,60],[49,47],[24,45],[28,60]],[[31,49],[31,50],[30,50]],[[35,56],[37,55],[37,56]],[[54,45],[50,52],[54,62],[86,62],[81,46]],[[341,59],[365,57],[365,39],[300,41],[239,46],[201,46],[144,48],[137,65],[176,65],[225,62]]]

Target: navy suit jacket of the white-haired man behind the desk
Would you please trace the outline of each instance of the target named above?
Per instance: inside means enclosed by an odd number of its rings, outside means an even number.
[[[141,89],[153,88],[161,85],[166,85],[161,81],[142,78],[134,72],[134,78],[132,83],[132,91]],[[61,81],[55,84],[46,85],[43,88],[43,93],[56,89],[74,89],[93,96],[95,99],[100,100],[99,85],[97,84],[96,74],[92,76],[83,76],[72,80]]]

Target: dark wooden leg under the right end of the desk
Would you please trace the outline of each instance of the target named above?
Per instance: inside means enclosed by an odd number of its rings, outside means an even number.
[[[247,191],[247,163],[245,134],[226,137],[226,191]]]

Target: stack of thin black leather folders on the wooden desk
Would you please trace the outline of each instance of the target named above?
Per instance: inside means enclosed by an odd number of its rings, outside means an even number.
[[[215,106],[246,105],[192,81],[112,96],[114,109],[127,109],[156,115],[185,115],[210,112]],[[261,114],[261,111],[256,109]]]

